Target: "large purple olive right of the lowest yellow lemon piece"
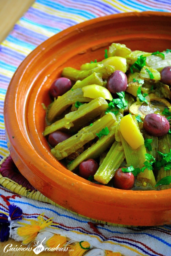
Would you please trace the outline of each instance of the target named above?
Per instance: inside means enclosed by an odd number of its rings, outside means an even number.
[[[164,136],[170,129],[169,121],[158,114],[148,114],[144,118],[144,129],[153,136]]]

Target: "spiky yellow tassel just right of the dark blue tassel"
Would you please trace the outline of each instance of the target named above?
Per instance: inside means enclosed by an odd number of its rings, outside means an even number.
[[[19,227],[17,229],[17,234],[19,236],[23,237],[23,244],[26,245],[26,244],[32,242],[41,229],[44,229],[45,227],[51,225],[52,218],[47,219],[47,221],[45,221],[43,219],[43,216],[44,216],[44,213],[39,215],[38,221],[31,220],[30,221],[31,224],[18,222],[19,224],[23,225],[23,227]]]

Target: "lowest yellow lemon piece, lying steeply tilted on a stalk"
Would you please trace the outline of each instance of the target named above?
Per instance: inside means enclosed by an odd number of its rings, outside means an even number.
[[[141,134],[131,115],[125,115],[121,119],[120,131],[125,141],[127,141],[133,149],[137,149],[144,144],[143,135]]]

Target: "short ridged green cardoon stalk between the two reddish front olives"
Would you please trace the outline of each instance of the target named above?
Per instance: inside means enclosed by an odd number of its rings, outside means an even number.
[[[100,183],[107,184],[113,178],[115,171],[124,161],[124,158],[123,146],[120,142],[115,141],[96,171],[94,179]]]

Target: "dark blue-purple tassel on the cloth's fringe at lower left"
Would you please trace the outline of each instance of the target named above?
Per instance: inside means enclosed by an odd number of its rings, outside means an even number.
[[[16,205],[9,205],[9,216],[4,213],[0,213],[0,223],[2,224],[1,232],[0,232],[0,239],[1,242],[7,241],[10,234],[10,222],[18,219],[22,219],[22,213],[20,207]]]

